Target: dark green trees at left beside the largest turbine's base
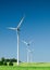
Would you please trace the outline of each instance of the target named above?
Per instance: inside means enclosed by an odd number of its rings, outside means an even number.
[[[4,57],[2,57],[0,59],[0,66],[8,66],[8,64],[9,64],[9,66],[13,66],[13,62],[17,62],[17,59],[15,59],[15,58],[4,58]]]

